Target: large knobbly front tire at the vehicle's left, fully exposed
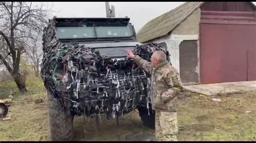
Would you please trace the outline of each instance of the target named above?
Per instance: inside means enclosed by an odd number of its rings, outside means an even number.
[[[48,94],[49,122],[52,141],[70,141],[73,139],[73,115],[64,109],[59,101]]]

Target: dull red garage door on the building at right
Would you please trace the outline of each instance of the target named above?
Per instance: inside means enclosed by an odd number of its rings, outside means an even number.
[[[256,25],[200,24],[200,83],[256,80]]]

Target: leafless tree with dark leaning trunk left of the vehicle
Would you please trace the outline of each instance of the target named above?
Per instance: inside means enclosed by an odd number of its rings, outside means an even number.
[[[0,47],[0,59],[19,88],[26,92],[25,81],[19,72],[21,55],[25,52],[30,31],[42,32],[49,10],[45,4],[28,2],[0,2],[0,35],[6,47]],[[10,56],[11,62],[6,60]]]

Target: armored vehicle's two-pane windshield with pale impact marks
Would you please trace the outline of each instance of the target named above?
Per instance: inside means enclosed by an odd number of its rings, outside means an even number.
[[[64,23],[57,24],[59,39],[131,37],[133,29],[129,23]]]

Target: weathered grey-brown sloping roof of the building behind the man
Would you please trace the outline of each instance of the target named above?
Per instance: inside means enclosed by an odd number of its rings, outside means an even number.
[[[137,33],[138,42],[144,43],[149,40],[170,34],[181,22],[200,8],[205,2],[186,2],[177,8],[160,15],[147,22]],[[255,5],[250,2],[255,8]]]

